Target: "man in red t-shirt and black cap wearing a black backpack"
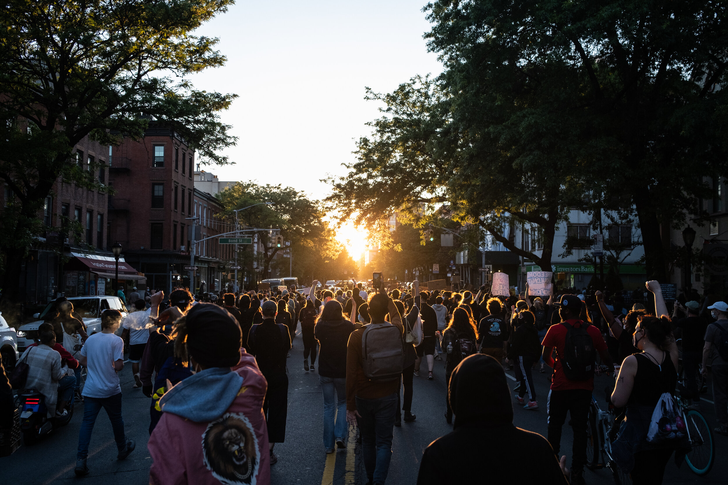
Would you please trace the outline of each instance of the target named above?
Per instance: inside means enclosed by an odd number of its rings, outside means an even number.
[[[546,365],[554,369],[548,395],[548,441],[558,455],[561,427],[566,413],[571,414],[574,441],[571,452],[571,484],[583,485],[587,448],[587,415],[594,390],[596,354],[612,369],[612,358],[596,326],[579,320],[582,300],[575,294],[563,294],[559,302],[561,324],[550,326],[542,345]],[[569,342],[567,342],[569,340]],[[551,357],[556,349],[556,361]],[[566,350],[569,350],[568,353]],[[579,349],[579,352],[574,349]]]

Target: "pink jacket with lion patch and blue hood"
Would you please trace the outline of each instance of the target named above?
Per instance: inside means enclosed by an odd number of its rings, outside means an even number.
[[[232,369],[205,369],[167,391],[147,445],[149,483],[269,484],[266,388],[256,359],[241,351]]]

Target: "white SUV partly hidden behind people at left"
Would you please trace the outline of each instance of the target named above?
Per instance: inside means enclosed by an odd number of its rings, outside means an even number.
[[[81,315],[89,335],[101,332],[101,313],[103,310],[115,308],[122,312],[122,317],[128,315],[127,307],[119,297],[70,297],[68,301],[74,304],[74,311]],[[55,306],[55,301],[48,303],[41,313],[33,315],[33,318],[39,318],[38,321],[20,326],[20,329],[17,330],[17,351],[19,353],[25,352],[25,348],[38,339],[38,327],[45,321],[46,316],[49,316],[55,310]],[[121,328],[119,328],[120,333]]]

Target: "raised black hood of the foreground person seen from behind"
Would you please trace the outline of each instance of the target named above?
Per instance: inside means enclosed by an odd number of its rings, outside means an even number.
[[[476,353],[458,364],[448,386],[455,425],[513,422],[513,404],[503,366],[491,356]]]

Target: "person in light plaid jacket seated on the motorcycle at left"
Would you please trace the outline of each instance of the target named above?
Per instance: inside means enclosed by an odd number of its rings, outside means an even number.
[[[66,403],[71,401],[76,384],[73,370],[68,369],[78,368],[79,363],[55,341],[51,324],[41,324],[38,337],[40,345],[29,345],[18,361],[28,364],[25,388],[36,389],[44,396],[47,417],[65,417]]]

